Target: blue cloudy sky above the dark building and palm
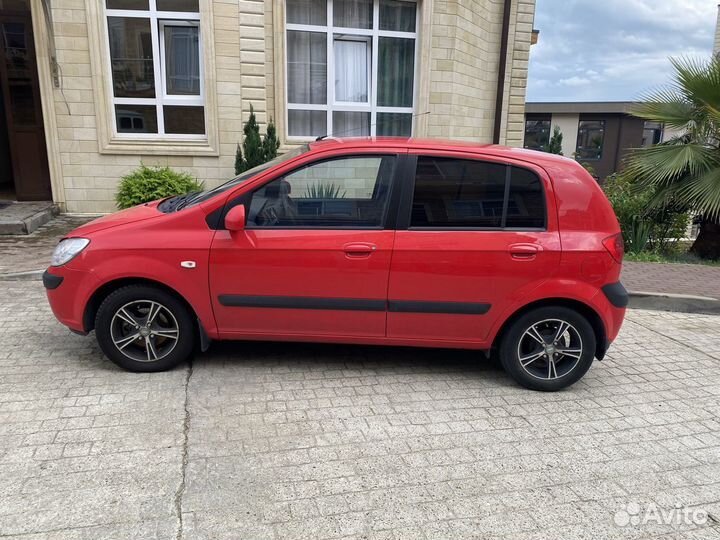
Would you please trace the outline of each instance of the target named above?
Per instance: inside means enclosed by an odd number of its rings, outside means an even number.
[[[528,101],[631,101],[709,57],[717,0],[537,0]]]

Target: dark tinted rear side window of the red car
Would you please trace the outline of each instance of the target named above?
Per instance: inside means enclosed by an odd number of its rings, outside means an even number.
[[[543,228],[545,196],[540,179],[526,169],[420,156],[410,226]]]

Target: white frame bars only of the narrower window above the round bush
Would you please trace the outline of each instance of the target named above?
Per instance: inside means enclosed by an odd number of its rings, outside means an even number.
[[[105,1],[102,1],[103,7]],[[156,0],[148,1],[148,10],[126,10],[104,8],[103,20],[106,33],[107,50],[103,51],[108,58],[106,77],[110,86],[111,125],[112,135],[119,140],[156,139],[171,141],[206,141],[208,139],[208,111],[205,100],[205,77],[203,64],[203,34],[200,28],[200,13],[185,11],[158,11]],[[110,36],[108,34],[108,17],[127,17],[150,20],[150,36],[153,53],[153,72],[155,75],[154,98],[128,98],[115,97],[112,79],[112,58],[110,58]],[[166,26],[195,26],[198,29],[198,55],[200,69],[200,95],[185,96],[167,94],[165,69],[165,27]],[[123,133],[118,131],[115,105],[151,105],[155,107],[157,117],[157,133]],[[163,105],[192,105],[203,107],[205,116],[205,133],[165,133],[165,118]]]

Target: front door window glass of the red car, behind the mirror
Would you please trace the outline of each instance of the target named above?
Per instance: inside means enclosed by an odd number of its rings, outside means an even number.
[[[248,228],[376,228],[383,225],[395,156],[313,163],[254,191]]]

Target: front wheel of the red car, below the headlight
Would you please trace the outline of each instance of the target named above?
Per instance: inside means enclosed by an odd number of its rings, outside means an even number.
[[[190,357],[195,342],[187,307],[150,285],[129,285],[110,293],[95,317],[95,335],[105,356],[136,372],[174,368]]]

